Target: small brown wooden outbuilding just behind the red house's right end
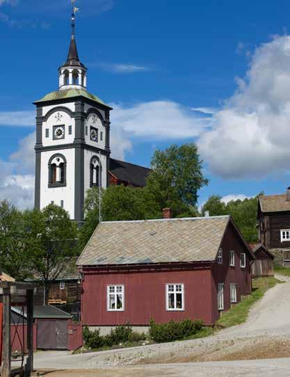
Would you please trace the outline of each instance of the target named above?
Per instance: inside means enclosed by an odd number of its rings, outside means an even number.
[[[250,245],[252,252],[255,254],[255,261],[251,266],[252,277],[259,276],[273,276],[273,260],[274,255],[265,246],[258,243],[257,245]]]

